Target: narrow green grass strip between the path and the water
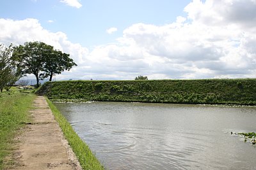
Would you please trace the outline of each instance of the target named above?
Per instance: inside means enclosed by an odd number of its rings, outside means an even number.
[[[68,144],[72,147],[72,150],[77,156],[83,169],[104,169],[99,160],[93,155],[89,146],[82,141],[81,138],[74,132],[71,125],[67,122],[66,118],[61,115],[60,111],[54,106],[54,104],[47,99],[47,103],[52,110],[54,117],[59,123]]]

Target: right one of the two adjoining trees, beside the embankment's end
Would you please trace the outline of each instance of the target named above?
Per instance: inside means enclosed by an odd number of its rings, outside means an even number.
[[[49,81],[52,81],[54,74],[60,74],[65,70],[69,71],[73,66],[77,66],[77,64],[69,58],[69,54],[54,50],[52,46],[48,46],[48,48],[43,70],[45,72],[45,78],[50,76]]]

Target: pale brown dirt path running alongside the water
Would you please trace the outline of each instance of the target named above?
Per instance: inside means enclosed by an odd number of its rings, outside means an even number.
[[[81,169],[74,153],[67,145],[63,133],[42,96],[34,101],[32,122],[19,136],[15,169]]]

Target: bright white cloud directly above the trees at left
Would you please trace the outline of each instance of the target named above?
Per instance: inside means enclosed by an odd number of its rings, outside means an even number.
[[[42,41],[65,53],[70,53],[70,57],[77,64],[86,62],[87,48],[78,43],[71,43],[63,32],[47,31],[36,19],[10,20],[0,18],[0,27],[0,43],[23,45],[27,41]]]

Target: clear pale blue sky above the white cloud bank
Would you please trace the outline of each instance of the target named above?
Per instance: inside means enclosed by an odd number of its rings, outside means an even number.
[[[76,8],[58,0],[2,0],[0,14],[1,18],[13,20],[36,18],[45,29],[65,32],[74,43],[95,46],[115,43],[115,39],[122,36],[122,31],[132,24],[164,25],[174,22],[177,16],[184,15],[183,9],[189,2],[83,0],[79,1],[82,6]],[[106,29],[111,27],[118,31],[106,34]]]

